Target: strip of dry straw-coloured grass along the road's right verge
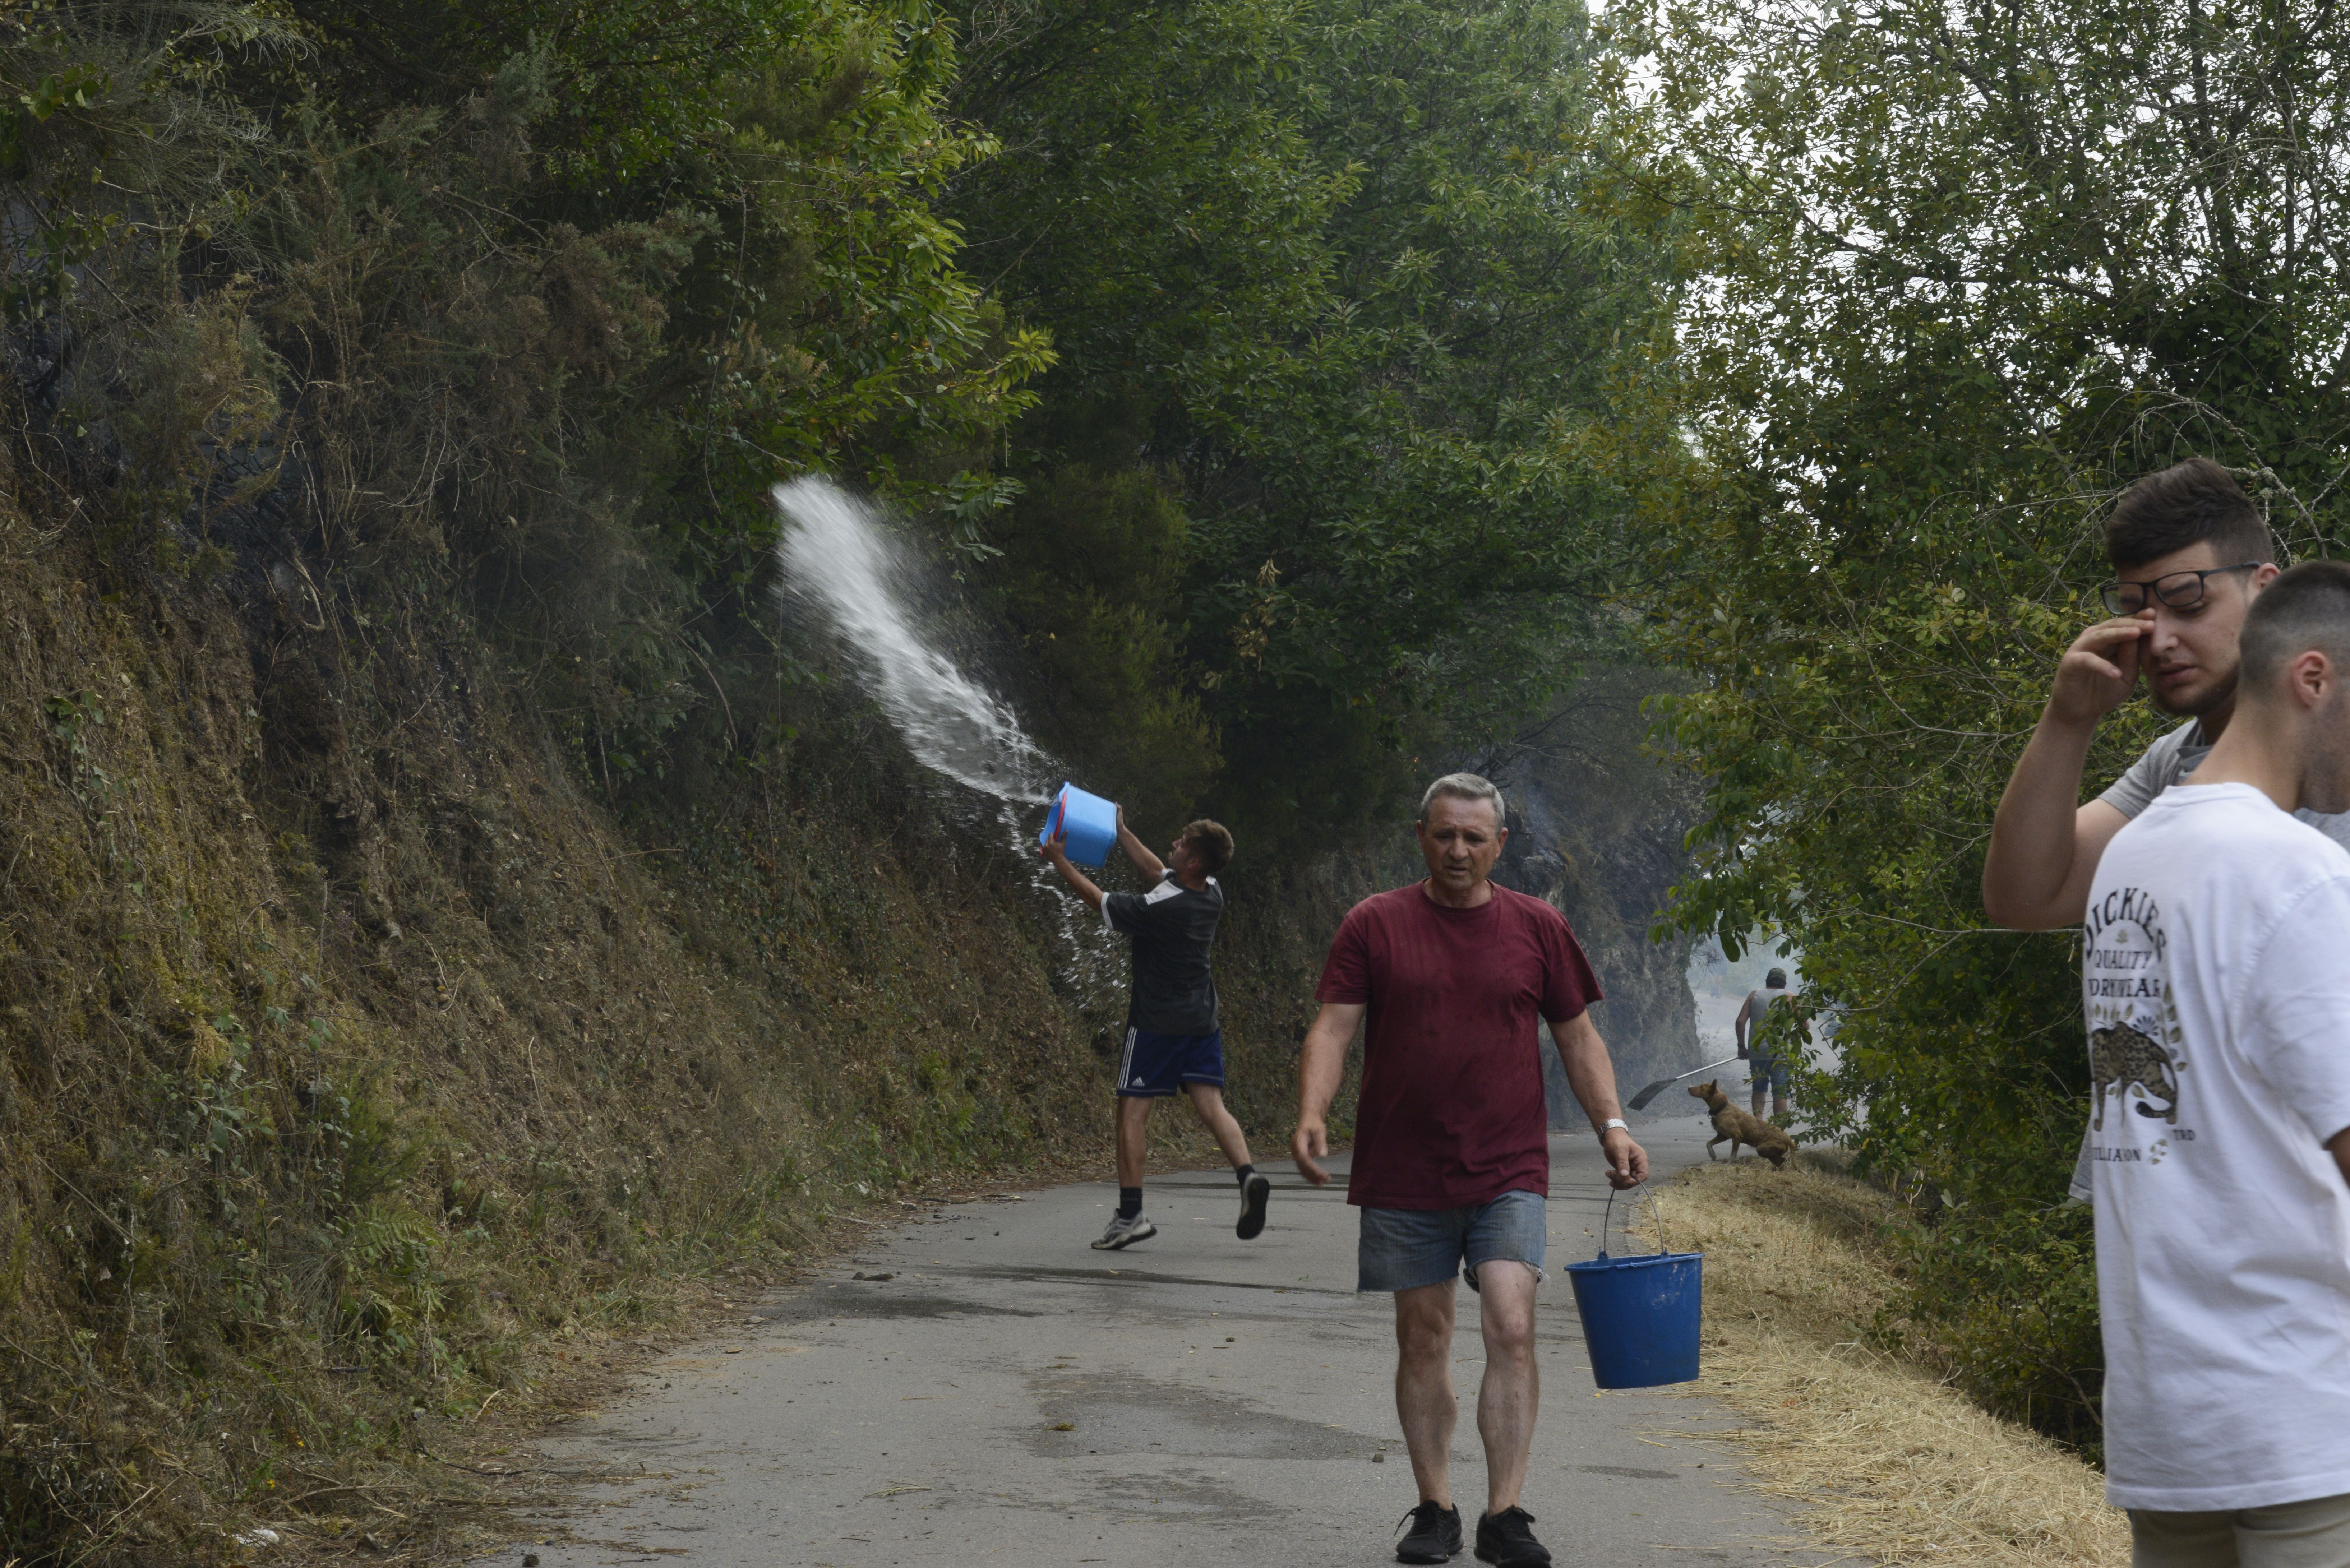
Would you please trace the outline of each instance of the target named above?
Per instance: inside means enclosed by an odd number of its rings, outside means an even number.
[[[1810,1161],[1687,1171],[1661,1197],[1676,1251],[1706,1253],[1706,1371],[1692,1396],[1744,1418],[1755,1483],[1842,1561],[2070,1568],[2129,1561],[2103,1479],[1861,1342],[1889,1295],[1901,1206]]]

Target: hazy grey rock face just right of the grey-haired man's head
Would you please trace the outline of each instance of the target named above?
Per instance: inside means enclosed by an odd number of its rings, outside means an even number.
[[[1683,835],[1697,811],[1694,780],[1640,752],[1640,698],[1654,689],[1650,670],[1596,672],[1485,759],[1485,776],[1509,799],[1509,849],[1495,879],[1551,900],[1574,926],[1607,992],[1591,1018],[1626,1098],[1704,1063],[1690,938],[1650,940],[1666,891],[1687,875]],[[1584,1126],[1556,1053],[1544,1053],[1544,1074],[1551,1126]]]

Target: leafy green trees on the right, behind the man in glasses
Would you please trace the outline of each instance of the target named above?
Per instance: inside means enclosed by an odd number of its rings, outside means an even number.
[[[1800,943],[1845,1009],[1819,1128],[2007,1258],[1967,1281],[1960,1248],[1920,1309],[2023,1321],[2049,1267],[2082,1291],[2054,1206],[2087,1063],[2075,938],[1983,929],[1990,811],[2092,618],[2117,487],[2211,454],[2291,550],[2341,543],[2345,24],[2167,0],[1614,24],[1617,197],[1685,277],[1605,442],[1657,536],[1657,646],[1706,677],[1666,710],[1708,783],[1678,917]],[[2157,729],[2110,722],[2089,790]],[[2094,1443],[2094,1316],[2059,1316],[2028,1356],[1960,1361]]]

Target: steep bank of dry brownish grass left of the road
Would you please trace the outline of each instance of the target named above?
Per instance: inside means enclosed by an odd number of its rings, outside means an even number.
[[[0,475],[26,1561],[233,1559],[249,1519],[430,1552],[381,1507],[446,1490],[421,1455],[486,1396],[790,1267],[832,1206],[1107,1154],[1114,1020],[855,715],[623,832],[461,618],[284,597],[118,571]],[[1236,966],[1260,1121],[1311,924]]]

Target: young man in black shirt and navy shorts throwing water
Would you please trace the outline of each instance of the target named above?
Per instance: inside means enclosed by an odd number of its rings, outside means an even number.
[[[1224,889],[1215,875],[1231,863],[1231,835],[1222,823],[1201,818],[1177,835],[1161,863],[1119,811],[1119,849],[1152,879],[1149,893],[1093,886],[1086,872],[1069,865],[1060,839],[1039,851],[1088,907],[1102,912],[1104,929],[1135,943],[1135,985],[1119,1056],[1119,1213],[1093,1246],[1116,1253],[1159,1234],[1142,1218],[1142,1166],[1152,1100],[1173,1093],[1191,1095],[1191,1110],[1241,1178],[1234,1234],[1253,1241],[1264,1232],[1274,1185],[1248,1161],[1248,1138],[1224,1110],[1224,1032],[1215,1020],[1215,976],[1208,971],[1215,924],[1224,917]]]

